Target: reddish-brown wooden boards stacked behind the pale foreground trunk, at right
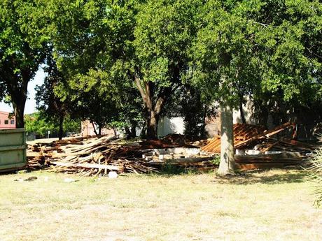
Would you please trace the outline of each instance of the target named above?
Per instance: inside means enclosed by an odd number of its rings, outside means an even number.
[[[296,166],[307,160],[307,155],[316,149],[315,145],[290,140],[284,136],[274,138],[277,134],[292,127],[287,122],[274,129],[265,131],[262,126],[234,124],[234,147],[242,154],[235,155],[240,169],[281,168]],[[257,154],[247,154],[246,149],[254,149]],[[221,153],[221,138],[216,137],[202,147],[204,152]],[[276,153],[274,153],[276,152]],[[283,153],[281,153],[283,152]]]

